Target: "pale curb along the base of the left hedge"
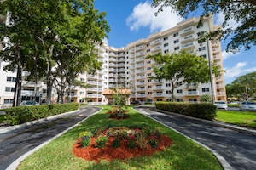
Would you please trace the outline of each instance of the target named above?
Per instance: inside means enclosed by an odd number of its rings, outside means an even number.
[[[80,111],[80,109],[78,109],[76,111]],[[65,115],[68,115],[70,113],[74,113],[76,111],[68,111],[68,112],[65,112],[65,113],[61,113],[59,115],[45,117],[45,118],[38,119],[38,120],[35,120],[35,121],[32,121],[32,122],[25,122],[25,123],[20,124],[20,125],[15,125],[15,126],[10,126],[10,127],[3,127],[3,128],[0,127],[0,134],[1,133],[7,133],[8,131],[15,130],[15,129],[20,128],[20,127],[30,126],[30,125],[36,124],[38,122],[44,122],[44,121],[46,122],[46,121],[49,121],[49,120],[55,120],[59,116],[65,116]]]

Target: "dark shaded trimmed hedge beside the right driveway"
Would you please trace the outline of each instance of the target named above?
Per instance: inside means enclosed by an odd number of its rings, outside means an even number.
[[[213,120],[217,114],[217,107],[212,104],[186,104],[179,102],[156,102],[156,109],[170,111],[186,116]]]

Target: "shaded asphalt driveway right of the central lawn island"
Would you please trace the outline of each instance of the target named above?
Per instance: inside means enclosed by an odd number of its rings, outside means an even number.
[[[166,115],[148,108],[136,110],[217,151],[234,169],[256,170],[255,135],[240,133],[182,116]]]

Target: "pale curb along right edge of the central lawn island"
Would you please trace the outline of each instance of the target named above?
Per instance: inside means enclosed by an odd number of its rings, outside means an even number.
[[[138,107],[138,108],[139,108],[139,107]],[[132,108],[132,109],[135,110],[134,108]],[[135,111],[137,111],[137,110],[135,110]],[[161,111],[161,110],[160,110],[160,111]],[[160,112],[160,111],[159,111],[159,112]],[[147,113],[143,113],[143,112],[141,112],[141,111],[138,111],[138,112],[142,113],[144,116],[148,116]],[[160,121],[154,119],[154,118],[151,117],[151,116],[148,116],[148,118],[153,119],[155,122],[159,122],[161,125],[163,125],[163,126],[165,126],[165,127],[168,127],[166,124],[164,124],[164,123],[162,123],[162,122],[160,122]],[[183,135],[183,136],[186,137],[187,139],[190,139],[190,140],[194,141],[196,144],[200,144],[202,147],[204,147],[204,148],[206,148],[207,150],[211,151],[212,154],[218,159],[218,162],[221,164],[221,166],[224,168],[224,170],[233,170],[233,169],[234,169],[233,167],[230,166],[230,163],[224,159],[223,156],[221,156],[221,155],[218,154],[217,151],[212,150],[212,149],[209,148],[207,145],[201,144],[200,142],[196,141],[195,139],[191,139],[190,137],[184,135],[183,133],[178,132],[176,129],[174,129],[174,128],[172,128],[172,127],[168,127],[168,128],[172,129],[174,132]]]

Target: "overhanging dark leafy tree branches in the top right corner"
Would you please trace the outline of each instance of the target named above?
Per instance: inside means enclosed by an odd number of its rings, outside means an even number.
[[[227,44],[226,51],[237,51],[241,47],[250,49],[252,45],[256,44],[256,1],[253,0],[153,0],[153,7],[159,7],[158,14],[163,8],[172,7],[172,11],[177,11],[182,17],[188,17],[189,12],[201,12],[201,20],[203,16],[209,14],[224,14],[224,23],[222,26],[224,30],[218,29],[208,34],[203,38],[210,40],[214,37],[227,39],[230,35],[233,37]],[[232,28],[228,21],[232,19],[241,26]],[[200,22],[201,23],[201,22]]]

